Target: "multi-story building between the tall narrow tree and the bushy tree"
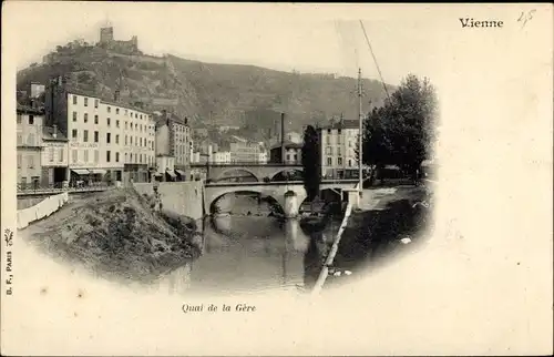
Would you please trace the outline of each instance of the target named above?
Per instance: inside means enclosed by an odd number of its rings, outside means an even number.
[[[331,121],[329,125],[318,129],[324,177],[358,177],[356,147],[359,132],[357,120]]]

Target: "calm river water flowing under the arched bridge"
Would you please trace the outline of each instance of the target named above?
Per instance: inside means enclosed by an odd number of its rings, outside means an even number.
[[[311,287],[341,217],[316,228],[270,212],[257,197],[234,197],[230,215],[201,222],[202,256],[164,276],[161,288],[214,295]]]

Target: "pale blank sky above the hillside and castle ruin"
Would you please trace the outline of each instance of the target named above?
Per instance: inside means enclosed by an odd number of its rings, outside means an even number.
[[[4,8],[8,28],[24,38],[19,69],[40,63],[58,44],[98,42],[100,27],[110,22],[116,40],[135,34],[148,54],[350,76],[361,68],[362,76],[378,79],[361,19],[387,83],[409,72],[432,78],[435,70],[437,31],[424,7],[18,1]]]

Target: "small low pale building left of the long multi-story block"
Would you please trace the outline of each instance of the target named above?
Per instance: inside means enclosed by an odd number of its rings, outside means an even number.
[[[62,187],[69,181],[69,140],[58,126],[42,128],[42,184]]]

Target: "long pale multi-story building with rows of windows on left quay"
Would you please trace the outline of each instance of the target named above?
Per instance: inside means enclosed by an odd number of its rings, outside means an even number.
[[[69,139],[71,182],[150,181],[155,165],[155,122],[142,108],[109,101],[50,83],[45,95],[49,125]]]

